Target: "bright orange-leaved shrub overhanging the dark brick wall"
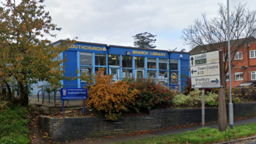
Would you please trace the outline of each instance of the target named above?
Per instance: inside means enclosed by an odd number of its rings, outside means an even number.
[[[97,74],[88,91],[86,106],[102,111],[106,119],[116,121],[133,105],[133,97],[139,91],[131,89],[127,82],[113,82],[112,75],[103,75],[102,69]]]

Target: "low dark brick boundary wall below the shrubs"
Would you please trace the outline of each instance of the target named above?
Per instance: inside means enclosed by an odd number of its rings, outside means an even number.
[[[256,103],[234,104],[234,117],[255,115]],[[201,123],[202,109],[150,110],[149,115],[122,116],[117,122],[107,121],[103,117],[50,118],[46,116],[39,116],[38,121],[53,141],[69,141]],[[214,121],[218,121],[218,108],[205,108],[205,122]]]

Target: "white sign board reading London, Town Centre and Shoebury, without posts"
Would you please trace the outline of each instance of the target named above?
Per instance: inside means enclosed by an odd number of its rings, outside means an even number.
[[[192,88],[220,87],[219,51],[189,56]]]

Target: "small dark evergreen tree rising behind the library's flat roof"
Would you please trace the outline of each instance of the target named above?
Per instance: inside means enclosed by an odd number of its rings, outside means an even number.
[[[156,39],[154,39],[155,36],[156,35],[152,35],[148,32],[132,36],[134,38],[134,46],[142,49],[154,49],[156,46],[151,43],[156,42]]]

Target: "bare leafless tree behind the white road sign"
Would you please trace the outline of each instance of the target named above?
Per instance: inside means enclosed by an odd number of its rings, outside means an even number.
[[[227,73],[228,53],[228,23],[227,9],[219,4],[217,17],[207,18],[202,14],[203,20],[194,20],[194,25],[183,29],[181,39],[192,49],[215,51],[222,49],[225,53],[225,72]],[[247,43],[255,41],[256,11],[245,9],[246,4],[238,4],[234,11],[230,11],[230,55],[234,63],[235,54]]]

